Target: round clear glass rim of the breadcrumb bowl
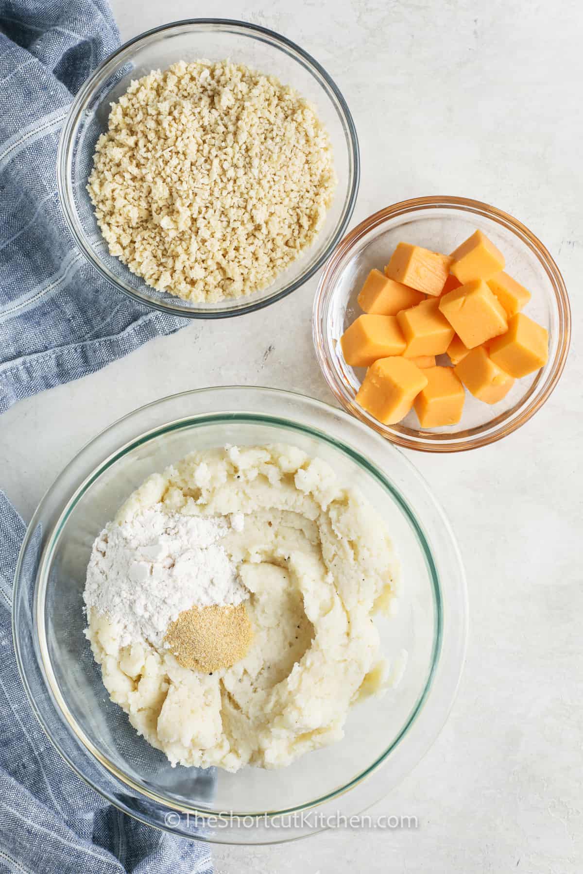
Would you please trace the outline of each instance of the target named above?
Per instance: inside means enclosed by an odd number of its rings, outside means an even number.
[[[106,79],[109,73],[113,72],[115,66],[121,61],[124,54],[128,55],[128,59],[133,54],[135,48],[145,45],[150,38],[157,37],[164,32],[171,30],[188,29],[191,27],[200,26],[201,29],[208,27],[223,27],[228,32],[242,33],[250,38],[257,39],[260,42],[269,42],[274,44],[288,57],[300,63],[309,73],[312,73],[314,78],[323,86],[323,90],[331,97],[332,102],[341,115],[344,130],[348,134],[347,149],[349,152],[349,179],[347,187],[347,196],[345,206],[340,221],[337,224],[330,243],[323,249],[320,257],[309,268],[306,274],[298,277],[295,281],[291,281],[277,294],[270,295],[261,301],[250,302],[246,305],[239,306],[237,309],[221,309],[217,311],[204,309],[184,309],[179,312],[163,302],[157,302],[147,296],[137,294],[135,289],[123,283],[115,274],[113,274],[103,261],[94,252],[87,240],[87,235],[77,215],[77,210],[74,205],[73,184],[71,181],[71,165],[73,162],[73,149],[75,135],[80,125],[80,119],[87,107],[87,102],[91,100],[97,87]],[[351,172],[350,172],[351,170]],[[63,123],[63,128],[59,136],[59,147],[57,150],[57,189],[59,191],[59,202],[66,219],[66,225],[73,234],[73,239],[80,249],[80,252],[85,256],[89,263],[108,281],[110,285],[116,288],[124,295],[128,295],[138,303],[150,309],[156,309],[159,312],[166,313],[177,318],[192,318],[192,319],[220,319],[231,318],[233,316],[245,316],[248,313],[253,313],[256,310],[263,309],[272,303],[281,301],[284,297],[290,295],[293,291],[301,288],[309,279],[317,273],[323,264],[330,257],[330,253],[334,251],[337,243],[342,239],[343,234],[350,222],[354,207],[357,202],[358,187],[360,184],[360,150],[358,146],[357,128],[355,126],[352,114],[348,108],[348,104],[344,99],[344,95],[340,91],[336,82],[331,78],[330,74],[324,70],[323,66],[313,58],[309,52],[302,49],[291,39],[284,37],[281,33],[269,30],[267,27],[262,27],[260,24],[251,24],[246,21],[239,21],[236,18],[182,18],[178,21],[172,21],[168,24],[160,24],[157,27],[151,28],[149,31],[143,31],[137,36],[128,39],[126,43],[120,45],[111,52],[108,57],[96,67],[94,73],[84,82],[79,92],[75,95],[73,103],[66,114],[66,119]]]

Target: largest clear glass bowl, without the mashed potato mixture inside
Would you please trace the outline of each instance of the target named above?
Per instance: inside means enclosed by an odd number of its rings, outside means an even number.
[[[407,650],[405,673],[385,697],[350,711],[344,739],[291,766],[247,766],[239,773],[171,767],[109,700],[83,634],[91,546],[131,491],[170,462],[195,449],[272,442],[294,444],[328,461],[341,481],[359,489],[385,518],[403,591],[399,613],[378,619],[378,629],[396,667]],[[24,687],[66,762],[142,822],[219,843],[291,840],[325,827],[316,813],[353,815],[378,801],[440,731],[455,697],[467,628],[454,536],[409,461],[337,409],[302,395],[250,387],[158,400],[82,449],[32,518],[13,605]],[[212,819],[219,814],[226,820]]]

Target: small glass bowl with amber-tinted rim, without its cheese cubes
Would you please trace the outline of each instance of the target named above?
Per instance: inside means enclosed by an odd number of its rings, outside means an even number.
[[[385,267],[401,241],[447,253],[476,228],[502,250],[506,271],[531,291],[524,312],[548,329],[549,360],[540,371],[517,379],[506,397],[493,406],[466,392],[459,425],[421,429],[413,411],[398,425],[383,425],[356,403],[365,371],[345,363],[339,342],[344,330],[362,313],[357,295],[364,279],[372,267]],[[345,410],[399,446],[457,452],[500,440],[543,406],[565,366],[571,311],[559,267],[540,240],[516,218],[478,200],[413,198],[365,218],[338,244],[318,286],[312,326],[318,363]],[[443,364],[447,362],[444,357]]]

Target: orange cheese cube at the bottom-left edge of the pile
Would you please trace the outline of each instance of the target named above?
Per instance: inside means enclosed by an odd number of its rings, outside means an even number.
[[[371,364],[357,393],[357,404],[385,425],[399,422],[427,385],[424,371],[408,358],[381,358]]]

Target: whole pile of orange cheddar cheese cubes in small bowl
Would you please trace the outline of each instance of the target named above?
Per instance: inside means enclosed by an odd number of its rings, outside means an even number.
[[[414,405],[421,428],[456,425],[464,386],[496,404],[548,360],[548,332],[521,312],[530,299],[482,231],[451,255],[399,243],[385,273],[366,276],[364,316],[340,339],[346,363],[367,368],[357,403],[385,425]],[[446,352],[453,367],[435,364]]]

